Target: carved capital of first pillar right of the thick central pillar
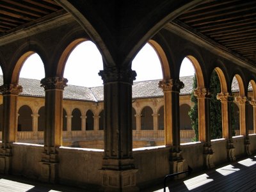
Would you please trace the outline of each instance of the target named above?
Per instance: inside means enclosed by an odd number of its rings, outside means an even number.
[[[184,88],[184,83],[179,79],[161,80],[158,83],[158,87],[161,88],[163,92],[180,92],[180,90]]]

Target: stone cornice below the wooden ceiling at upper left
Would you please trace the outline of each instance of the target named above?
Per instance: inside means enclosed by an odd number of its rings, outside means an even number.
[[[22,26],[22,28],[17,28],[15,31],[0,36],[0,46],[48,31],[58,26],[63,26],[72,21],[74,21],[74,18],[67,12],[58,12],[51,14],[51,16],[48,15],[48,17],[36,20],[36,22],[26,24],[25,26]]]

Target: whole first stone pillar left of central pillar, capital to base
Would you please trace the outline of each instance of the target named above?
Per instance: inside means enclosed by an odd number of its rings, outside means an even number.
[[[58,147],[62,145],[63,90],[67,79],[47,77],[41,80],[45,89],[44,152],[41,159],[41,180],[58,180]]]

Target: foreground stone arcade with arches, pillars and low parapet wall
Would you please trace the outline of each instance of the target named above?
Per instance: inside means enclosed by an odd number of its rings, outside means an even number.
[[[61,10],[0,37],[1,173],[102,191],[138,191],[162,182],[169,173],[188,170],[188,166],[196,172],[255,154],[256,136],[248,131],[248,105],[253,106],[253,132],[256,129],[255,66],[179,22],[171,22],[204,1],[54,2]],[[63,147],[63,90],[68,81],[63,72],[70,52],[86,40],[97,45],[103,58],[99,76],[104,83],[104,102],[95,114],[104,110],[103,150]],[[163,71],[159,87],[164,94],[164,145],[132,148],[132,83],[136,72],[131,62],[147,42],[156,50]],[[45,68],[41,80],[45,90],[44,145],[17,143],[16,137],[22,93],[19,73],[26,58],[35,52]],[[179,71],[185,57],[196,72],[199,141],[181,144],[179,93],[184,83]],[[221,82],[221,92],[216,95],[222,110],[223,138],[219,140],[211,140],[209,127],[209,83],[214,70]],[[239,84],[236,97],[231,90],[234,77]],[[252,97],[248,97],[248,84],[252,85]],[[230,123],[234,100],[239,104],[240,129],[235,137]]]

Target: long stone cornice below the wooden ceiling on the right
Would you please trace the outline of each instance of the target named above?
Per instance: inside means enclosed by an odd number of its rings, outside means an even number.
[[[191,31],[191,29],[188,26],[186,26],[186,24],[183,24],[179,20],[169,22],[164,28],[168,31],[171,31],[175,35],[181,36],[189,42],[192,42],[193,44],[204,47],[208,51],[211,51],[212,53],[217,54],[218,56],[230,60],[233,63],[236,63],[237,65],[245,67],[251,72],[256,73],[256,67],[253,65],[252,62],[247,61],[246,58],[239,56],[238,54],[230,51],[230,49],[227,49],[223,45],[214,42],[206,36],[199,35],[198,33]]]

